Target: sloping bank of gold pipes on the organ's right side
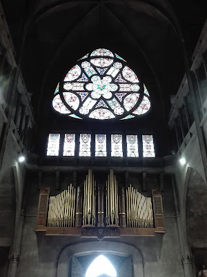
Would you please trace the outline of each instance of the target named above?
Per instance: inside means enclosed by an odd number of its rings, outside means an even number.
[[[153,228],[152,199],[132,185],[126,189],[126,220],[128,228]]]

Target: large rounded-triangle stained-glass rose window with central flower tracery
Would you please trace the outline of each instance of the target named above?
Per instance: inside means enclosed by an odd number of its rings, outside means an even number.
[[[52,105],[75,118],[129,119],[150,109],[145,85],[116,53],[99,48],[77,61],[59,82]]]

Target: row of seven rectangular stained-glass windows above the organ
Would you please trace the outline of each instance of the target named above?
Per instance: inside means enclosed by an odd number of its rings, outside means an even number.
[[[146,134],[137,136],[137,134],[126,135],[126,154],[124,154],[124,143],[121,134],[110,135],[110,148],[111,153],[107,150],[107,135],[95,134],[95,141],[91,141],[91,134],[63,134],[63,152],[60,153],[63,156],[73,157],[75,156],[75,141],[79,138],[79,156],[90,157],[91,156],[91,143],[95,142],[95,157],[107,157],[109,154],[111,157],[139,157],[139,145],[143,148],[143,157],[155,157],[154,140],[152,134]],[[48,136],[48,148],[47,156],[59,156],[61,134],[49,134]],[[140,143],[138,144],[138,142]],[[78,153],[78,152],[77,152]]]

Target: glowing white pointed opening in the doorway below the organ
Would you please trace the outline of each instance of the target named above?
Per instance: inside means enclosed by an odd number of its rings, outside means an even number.
[[[111,277],[117,276],[117,271],[112,266],[110,261],[103,255],[95,258],[95,260],[90,264],[86,271],[86,277],[97,277],[101,274],[107,274]]]

